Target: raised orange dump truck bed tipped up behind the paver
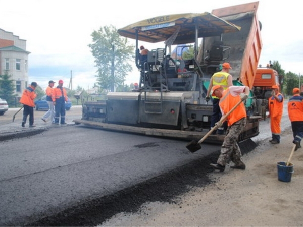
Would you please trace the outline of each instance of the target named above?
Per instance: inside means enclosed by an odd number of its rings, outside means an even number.
[[[250,89],[254,84],[262,49],[258,6],[259,2],[253,2],[212,11],[212,14],[241,27],[239,32],[223,34],[222,43],[231,47],[227,61],[232,67],[230,74],[233,80],[239,80]],[[211,49],[214,38],[207,37],[204,42],[208,46],[206,49]]]

